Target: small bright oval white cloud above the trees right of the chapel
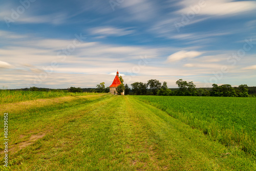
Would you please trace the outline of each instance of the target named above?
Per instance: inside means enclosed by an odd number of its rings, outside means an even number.
[[[194,58],[200,56],[202,52],[197,51],[179,51],[167,57],[167,62],[179,61],[184,58]]]

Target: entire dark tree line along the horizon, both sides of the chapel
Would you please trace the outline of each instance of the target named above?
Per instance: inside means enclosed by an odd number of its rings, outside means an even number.
[[[256,87],[248,87],[246,84],[241,84],[239,87],[231,87],[230,84],[223,84],[218,86],[212,84],[212,88],[196,88],[193,81],[184,81],[179,79],[176,81],[178,90],[170,90],[167,87],[167,82],[163,84],[156,79],[148,80],[147,83],[134,82],[131,84],[132,89],[128,84],[123,84],[122,76],[119,76],[121,84],[117,87],[117,94],[121,94],[124,90],[124,95],[154,95],[154,96],[219,96],[219,97],[255,97]],[[17,89],[18,90],[18,89]],[[97,84],[96,89],[92,88],[75,88],[68,89],[46,89],[46,88],[25,88],[19,89],[23,91],[54,91],[54,92],[95,92],[95,93],[109,93],[110,88],[105,87],[105,82]]]

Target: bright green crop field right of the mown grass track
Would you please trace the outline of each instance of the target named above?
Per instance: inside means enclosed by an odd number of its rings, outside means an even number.
[[[256,99],[233,97],[133,96],[167,112],[212,140],[256,156]]]

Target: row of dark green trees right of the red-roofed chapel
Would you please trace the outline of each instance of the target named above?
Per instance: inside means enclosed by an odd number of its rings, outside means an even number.
[[[249,97],[246,84],[234,88],[230,84],[212,84],[211,90],[197,89],[193,81],[187,82],[182,79],[177,80],[176,84],[179,89],[171,91],[167,87],[167,82],[164,81],[162,84],[159,80],[151,79],[147,83],[132,83],[132,90],[129,92],[131,95]]]

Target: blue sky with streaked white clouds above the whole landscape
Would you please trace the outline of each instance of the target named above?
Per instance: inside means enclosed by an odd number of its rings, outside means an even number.
[[[0,89],[109,87],[117,70],[256,86],[256,1],[0,1]]]

